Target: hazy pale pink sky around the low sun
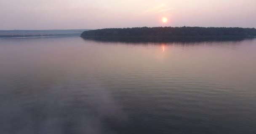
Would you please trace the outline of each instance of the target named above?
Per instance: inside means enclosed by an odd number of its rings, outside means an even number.
[[[256,0],[0,0],[0,30],[143,26],[256,28]]]

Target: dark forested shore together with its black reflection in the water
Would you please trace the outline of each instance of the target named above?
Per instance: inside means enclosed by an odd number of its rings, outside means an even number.
[[[105,28],[84,31],[84,39],[101,41],[215,41],[256,37],[255,28],[141,27]]]

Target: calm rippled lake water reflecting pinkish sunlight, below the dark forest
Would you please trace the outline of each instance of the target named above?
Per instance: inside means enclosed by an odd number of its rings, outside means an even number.
[[[0,39],[1,134],[256,134],[256,40]]]

